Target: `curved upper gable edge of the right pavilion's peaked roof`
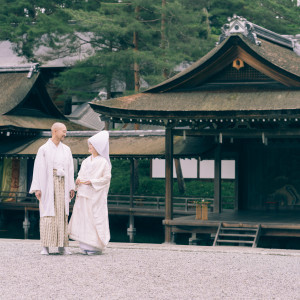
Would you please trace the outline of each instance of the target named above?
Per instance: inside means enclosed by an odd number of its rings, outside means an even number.
[[[269,48],[273,47],[284,52],[288,51],[287,53],[298,62],[298,66],[300,65],[300,57],[297,57],[293,51],[266,41],[262,41],[262,43]],[[267,58],[266,53],[261,51],[262,48],[259,47],[263,46],[251,44],[242,35],[231,35],[192,66],[161,84],[146,90],[145,93],[163,93],[182,88],[188,89],[189,86],[193,86],[195,83],[201,85],[237,58],[244,60],[258,71],[286,86],[300,87],[299,67],[293,66],[296,69],[289,70],[288,66],[282,61],[278,62],[276,59],[271,61],[272,57]]]

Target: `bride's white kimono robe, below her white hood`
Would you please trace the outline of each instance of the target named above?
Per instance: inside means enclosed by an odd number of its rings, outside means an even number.
[[[107,195],[111,179],[111,166],[102,156],[87,157],[81,164],[80,184],[69,223],[71,239],[104,249],[110,240]]]

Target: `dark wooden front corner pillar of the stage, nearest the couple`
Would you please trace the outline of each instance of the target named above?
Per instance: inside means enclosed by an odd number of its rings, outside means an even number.
[[[168,221],[173,219],[173,133],[171,127],[166,127],[166,196],[165,196],[165,243],[172,242],[172,231]]]

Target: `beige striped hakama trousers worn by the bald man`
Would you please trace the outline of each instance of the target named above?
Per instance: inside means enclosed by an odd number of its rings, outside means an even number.
[[[68,216],[65,212],[65,178],[53,170],[54,217],[40,218],[40,239],[43,247],[67,247]]]

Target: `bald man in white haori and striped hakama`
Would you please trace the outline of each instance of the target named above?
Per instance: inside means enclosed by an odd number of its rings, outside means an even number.
[[[49,247],[58,247],[60,254],[70,254],[65,247],[69,245],[69,203],[75,195],[73,157],[70,148],[62,143],[66,126],[54,123],[51,133],[52,138],[36,155],[29,192],[39,200],[41,254],[49,255]]]

